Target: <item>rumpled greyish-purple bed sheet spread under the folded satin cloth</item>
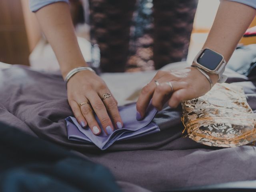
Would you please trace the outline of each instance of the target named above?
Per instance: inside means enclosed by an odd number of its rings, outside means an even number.
[[[244,88],[256,112],[256,77],[226,70],[228,82]],[[164,108],[154,118],[160,132],[116,142],[106,151],[67,139],[64,118],[71,116],[66,88],[58,72],[12,66],[0,70],[0,121],[64,146],[108,167],[124,191],[256,180],[256,148],[214,148],[182,138],[180,107]]]

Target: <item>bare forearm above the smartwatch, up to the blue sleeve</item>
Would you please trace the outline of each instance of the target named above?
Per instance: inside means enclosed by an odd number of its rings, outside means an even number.
[[[221,0],[203,48],[210,48],[222,54],[228,62],[255,14],[256,10],[250,6]]]

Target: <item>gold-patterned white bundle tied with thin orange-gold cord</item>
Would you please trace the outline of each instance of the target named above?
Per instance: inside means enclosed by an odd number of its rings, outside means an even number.
[[[187,135],[198,143],[236,147],[256,140],[256,115],[240,86],[217,83],[204,96],[182,102],[182,109]]]

